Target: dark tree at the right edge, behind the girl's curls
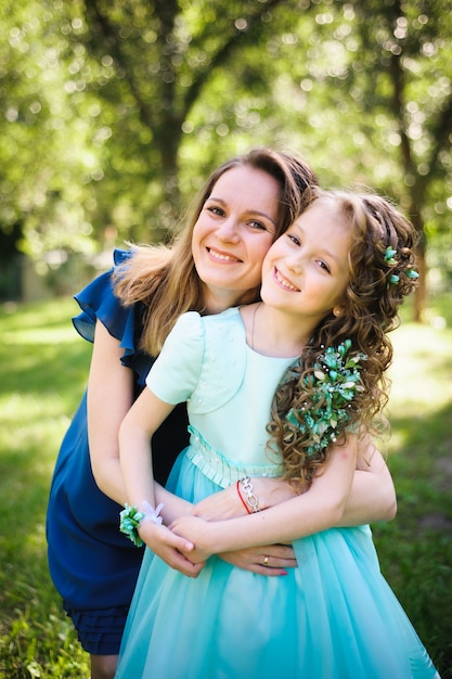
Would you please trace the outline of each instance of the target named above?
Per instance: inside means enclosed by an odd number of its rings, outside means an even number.
[[[425,225],[435,219],[435,210],[448,209],[447,194],[434,196],[438,181],[451,169],[452,49],[445,38],[451,36],[452,21],[448,3],[441,0],[371,1],[365,9],[354,1],[353,8],[361,35],[361,63],[365,54],[365,73],[375,74],[375,97],[392,121],[393,143],[399,150],[403,182],[397,197],[419,235],[415,320],[421,320],[427,281]]]

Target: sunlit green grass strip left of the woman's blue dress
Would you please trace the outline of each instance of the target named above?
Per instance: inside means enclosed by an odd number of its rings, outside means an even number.
[[[90,346],[73,300],[0,312],[0,677],[81,679],[87,656],[47,568],[44,520],[61,439],[85,389]]]

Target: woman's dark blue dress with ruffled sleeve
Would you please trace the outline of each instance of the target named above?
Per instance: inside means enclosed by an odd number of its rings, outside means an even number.
[[[115,265],[130,255],[116,251]],[[124,347],[121,362],[133,372],[135,396],[144,387],[154,359],[139,349],[143,307],[125,309],[113,293],[112,270],[76,295],[81,313],[74,325],[92,342],[100,320]],[[105,396],[108,398],[108,396]],[[186,410],[160,427],[155,474],[165,483],[189,440]],[[48,559],[52,580],[89,653],[117,654],[143,550],[118,531],[120,508],[95,485],[89,456],[87,400],[64,437],[53,473],[47,512]]]

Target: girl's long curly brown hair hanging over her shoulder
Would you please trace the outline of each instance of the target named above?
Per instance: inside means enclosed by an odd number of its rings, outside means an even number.
[[[300,360],[287,371],[272,405],[268,431],[282,453],[284,476],[301,485],[309,485],[325,464],[331,445],[312,454],[315,432],[288,422],[287,413],[293,409],[299,413],[299,422],[306,422],[305,413],[315,402],[315,366],[327,347],[337,348],[349,341],[351,353],[366,358],[360,372],[360,390],[347,406],[347,431],[372,433],[388,400],[385,372],[392,360],[392,345],[387,333],[399,324],[399,307],[417,283],[414,227],[389,201],[345,191],[313,189],[309,193],[313,201],[330,201],[337,206],[350,225],[352,245],[349,282],[338,304],[339,316],[330,312],[318,325]],[[345,427],[338,428],[334,436],[344,443]]]

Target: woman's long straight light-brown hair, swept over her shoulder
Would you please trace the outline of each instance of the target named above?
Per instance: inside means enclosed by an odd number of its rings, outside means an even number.
[[[168,247],[134,246],[132,257],[115,271],[115,293],[125,306],[143,303],[144,329],[141,348],[156,356],[177,318],[184,311],[205,311],[203,284],[193,255],[193,229],[218,179],[228,170],[249,166],[273,177],[280,184],[275,238],[294,221],[301,209],[302,193],[318,179],[295,155],[259,148],[236,156],[217,168],[206,181],[181,235]],[[259,289],[255,291],[259,298]]]

